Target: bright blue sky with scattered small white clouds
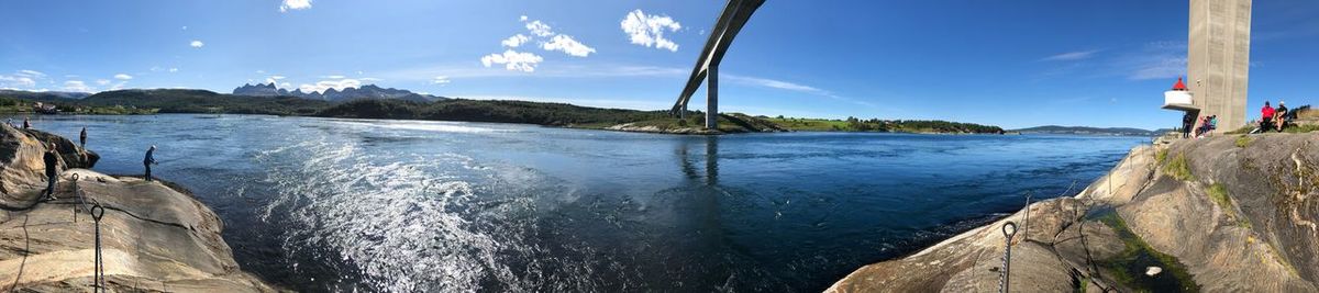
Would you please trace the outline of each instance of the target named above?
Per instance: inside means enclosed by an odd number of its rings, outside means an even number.
[[[307,90],[375,83],[661,110],[682,90],[721,7],[9,1],[0,11],[0,88],[230,92],[266,81]],[[1319,1],[1254,1],[1248,108],[1265,99],[1319,102],[1316,15]],[[1186,30],[1187,1],[1173,0],[769,0],[724,58],[720,108],[1006,128],[1173,127],[1178,112],[1158,106],[1184,74]],[[692,110],[704,108],[700,92]]]

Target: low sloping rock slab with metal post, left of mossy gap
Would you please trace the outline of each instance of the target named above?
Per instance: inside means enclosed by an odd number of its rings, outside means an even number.
[[[915,255],[865,265],[827,292],[995,292],[1008,222],[1018,227],[1012,242],[1012,289],[1070,292],[1091,276],[1093,288],[1108,288],[1087,261],[1116,256],[1122,242],[1108,226],[1084,218],[1091,207],[1075,198],[1038,202]]]

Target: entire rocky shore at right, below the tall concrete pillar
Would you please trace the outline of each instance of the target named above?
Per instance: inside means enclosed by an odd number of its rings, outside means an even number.
[[[1319,292],[1319,133],[1132,152],[1072,198],[1031,203],[827,292]],[[1029,216],[1029,219],[1028,219]]]

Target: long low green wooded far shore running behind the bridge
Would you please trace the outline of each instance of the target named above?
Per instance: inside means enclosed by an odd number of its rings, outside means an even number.
[[[22,98],[33,98],[22,99]],[[71,114],[260,114],[359,119],[415,119],[446,121],[522,123],[551,127],[619,129],[663,133],[708,133],[704,114],[689,111],[677,119],[669,111],[638,111],[582,107],[565,103],[522,100],[445,99],[418,102],[404,99],[357,99],[326,102],[295,96],[247,96],[206,90],[119,90],[83,99],[50,95],[0,95],[0,107],[22,110],[22,102],[54,103]],[[3,108],[0,108],[3,110]],[[1001,133],[1002,128],[940,120],[847,120],[770,119],[745,114],[719,115],[719,132],[777,131],[861,131],[917,133]]]

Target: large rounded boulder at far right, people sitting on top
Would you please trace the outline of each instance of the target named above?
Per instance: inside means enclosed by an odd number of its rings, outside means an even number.
[[[1119,207],[1150,247],[1208,292],[1319,290],[1319,133],[1182,141],[1162,157]]]

